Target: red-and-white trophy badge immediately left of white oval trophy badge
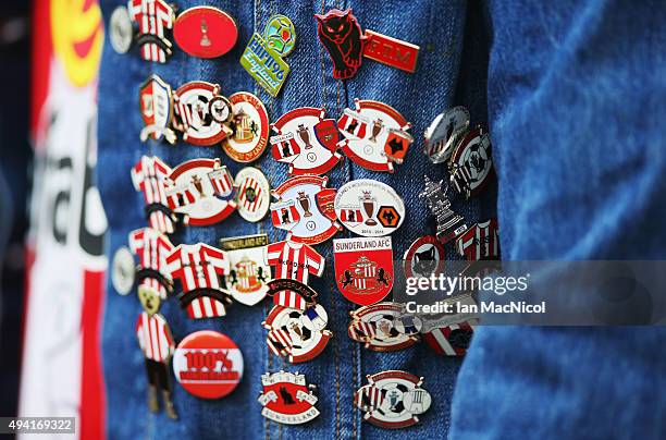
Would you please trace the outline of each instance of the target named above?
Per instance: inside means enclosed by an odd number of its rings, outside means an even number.
[[[329,178],[299,175],[273,190],[273,225],[288,231],[287,240],[317,244],[342,229],[335,218],[335,190],[326,188]]]

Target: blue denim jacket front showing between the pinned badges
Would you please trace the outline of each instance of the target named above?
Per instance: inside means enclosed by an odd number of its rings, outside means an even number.
[[[121,1],[102,1],[104,20]],[[200,4],[180,0],[178,7]],[[284,0],[207,1],[231,13],[239,27],[237,46],[215,60],[200,60],[180,49],[165,65],[139,59],[136,52],[116,54],[104,44],[99,83],[99,158],[98,182],[109,220],[111,256],[126,244],[127,233],[146,224],[143,200],[136,194],[130,169],[141,155],[157,155],[176,166],[197,157],[222,158],[235,173],[242,167],[225,157],[219,147],[195,147],[184,143],[141,144],[138,133],[141,120],[137,109],[139,85],[151,73],[159,74],[172,87],[193,80],[219,82],[224,95],[248,90],[262,99],[271,120],[301,106],[323,106],[329,115],[337,118],[343,109],[353,106],[354,98],[384,101],[414,124],[417,142],[405,164],[395,174],[370,172],[350,161],[337,166],[329,175],[330,186],[340,187],[353,179],[375,179],[388,183],[403,196],[407,206],[407,221],[393,235],[394,255],[402,256],[417,237],[432,233],[433,220],[417,194],[422,190],[422,174],[443,178],[444,168],[431,164],[421,154],[422,133],[430,121],[454,103],[462,47],[466,2],[436,1],[316,1]],[[357,77],[345,83],[332,77],[332,63],[317,38],[314,13],[332,8],[353,8],[363,28],[400,38],[421,47],[415,74],[365,60]],[[239,57],[257,29],[261,32],[272,14],[287,15],[297,32],[296,49],[286,58],[292,71],[278,98],[271,98],[245,72]],[[273,186],[286,179],[286,166],[275,162],[270,154],[258,164]],[[480,218],[479,204],[456,204],[455,208],[468,220]],[[238,216],[222,224],[187,228],[173,235],[174,243],[205,242],[215,245],[220,237],[266,232],[271,241],[280,241],[284,231],[275,230],[270,219],[250,224]],[[338,237],[349,236],[343,232]],[[361,414],[354,408],[353,394],[366,383],[366,375],[385,369],[405,369],[424,377],[424,388],[433,396],[433,405],[424,414],[422,425],[404,431],[391,432],[392,438],[444,438],[449,425],[449,402],[459,360],[435,356],[427,345],[418,345],[398,353],[381,354],[361,349],[346,334],[348,313],[355,306],[340,294],[334,282],[331,242],[316,246],[326,258],[326,271],[311,285],[320,293],[320,302],[329,313],[329,328],[334,339],[314,360],[292,366],[269,354],[266,330],[261,321],[271,305],[267,300],[252,308],[235,304],[222,319],[189,320],[175,301],[168,301],[162,314],[169,321],[174,338],[181,340],[199,329],[213,329],[229,334],[240,347],[245,358],[245,375],[240,386],[227,398],[202,401],[175,386],[174,403],[180,420],[172,421],[161,413],[152,415],[146,406],[147,382],[143,354],[138,350],[134,325],[140,311],[133,296],[119,296],[109,283],[102,333],[104,376],[107,382],[107,425],[110,438],[384,438],[386,430],[361,423]],[[453,252],[451,253],[453,257]],[[303,426],[282,426],[261,416],[257,398],[261,391],[260,376],[284,368],[307,376],[319,386],[318,407],[321,415]]]

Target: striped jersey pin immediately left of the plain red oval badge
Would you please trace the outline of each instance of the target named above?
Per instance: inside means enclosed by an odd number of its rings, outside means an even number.
[[[173,8],[163,0],[130,0],[130,16],[138,24],[136,44],[146,61],[165,63],[173,53],[169,34],[173,28]]]

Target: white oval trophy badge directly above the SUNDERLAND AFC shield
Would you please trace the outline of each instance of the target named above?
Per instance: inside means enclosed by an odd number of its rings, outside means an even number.
[[[362,236],[388,235],[405,220],[405,203],[395,190],[369,179],[344,184],[334,207],[345,228]]]

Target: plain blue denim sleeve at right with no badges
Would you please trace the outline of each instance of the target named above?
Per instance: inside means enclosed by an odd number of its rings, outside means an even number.
[[[664,259],[664,3],[488,7],[503,257]],[[665,341],[663,328],[482,328],[451,437],[665,438]]]

